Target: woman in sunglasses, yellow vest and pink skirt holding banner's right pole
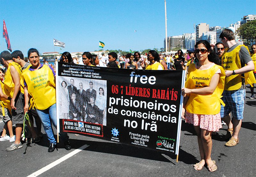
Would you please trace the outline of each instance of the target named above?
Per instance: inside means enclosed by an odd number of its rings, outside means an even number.
[[[190,64],[185,88],[181,89],[184,96],[182,118],[194,125],[197,134],[201,161],[194,165],[194,169],[201,170],[207,165],[208,170],[214,172],[217,166],[211,159],[212,131],[221,128],[220,104],[223,102],[220,97],[224,89],[225,72],[218,65],[218,58],[209,42],[200,40],[195,48],[198,62]]]

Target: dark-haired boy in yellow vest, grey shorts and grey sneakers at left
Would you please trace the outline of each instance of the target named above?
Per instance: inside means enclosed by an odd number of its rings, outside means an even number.
[[[12,108],[12,123],[16,125],[15,132],[15,142],[10,147],[6,148],[6,151],[12,151],[22,148],[20,142],[24,110],[22,104],[23,94],[20,89],[20,74],[22,73],[21,67],[18,63],[12,61],[12,55],[8,51],[3,51],[0,54],[0,62],[6,67],[4,75],[4,92],[11,99]]]

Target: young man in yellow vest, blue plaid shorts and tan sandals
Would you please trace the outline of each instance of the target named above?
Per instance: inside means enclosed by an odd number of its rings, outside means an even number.
[[[227,47],[221,57],[221,65],[226,74],[222,100],[226,106],[221,105],[220,116],[228,125],[227,133],[230,134],[230,139],[225,146],[232,147],[239,143],[238,133],[244,118],[245,83],[242,76],[244,73],[254,70],[254,65],[246,47],[236,44],[235,34],[232,30],[223,30],[220,39]],[[228,115],[230,112],[233,116],[232,123]]]

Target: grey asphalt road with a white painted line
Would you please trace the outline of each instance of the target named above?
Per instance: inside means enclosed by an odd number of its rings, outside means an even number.
[[[39,143],[25,143],[23,148],[11,152],[5,151],[11,145],[9,141],[0,142],[0,176],[28,176],[35,172],[39,176],[254,176],[256,99],[248,99],[249,96],[247,93],[239,144],[224,146],[226,125],[213,137],[212,159],[218,166],[213,173],[205,167],[201,171],[194,170],[193,164],[200,159],[197,139],[193,126],[183,121],[178,163],[174,155],[74,134],[69,134],[70,151],[60,142],[58,151],[48,153],[44,134]],[[81,146],[84,147],[79,150]]]

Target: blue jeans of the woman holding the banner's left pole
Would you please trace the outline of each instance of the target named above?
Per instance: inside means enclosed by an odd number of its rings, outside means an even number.
[[[44,127],[44,131],[47,135],[48,140],[50,141],[50,143],[56,144],[56,140],[54,138],[52,125],[51,125],[52,123],[53,126],[57,128],[56,103],[45,110],[36,110],[36,112],[41,119],[41,122]],[[60,137],[62,141],[68,140],[67,133],[60,133]]]

